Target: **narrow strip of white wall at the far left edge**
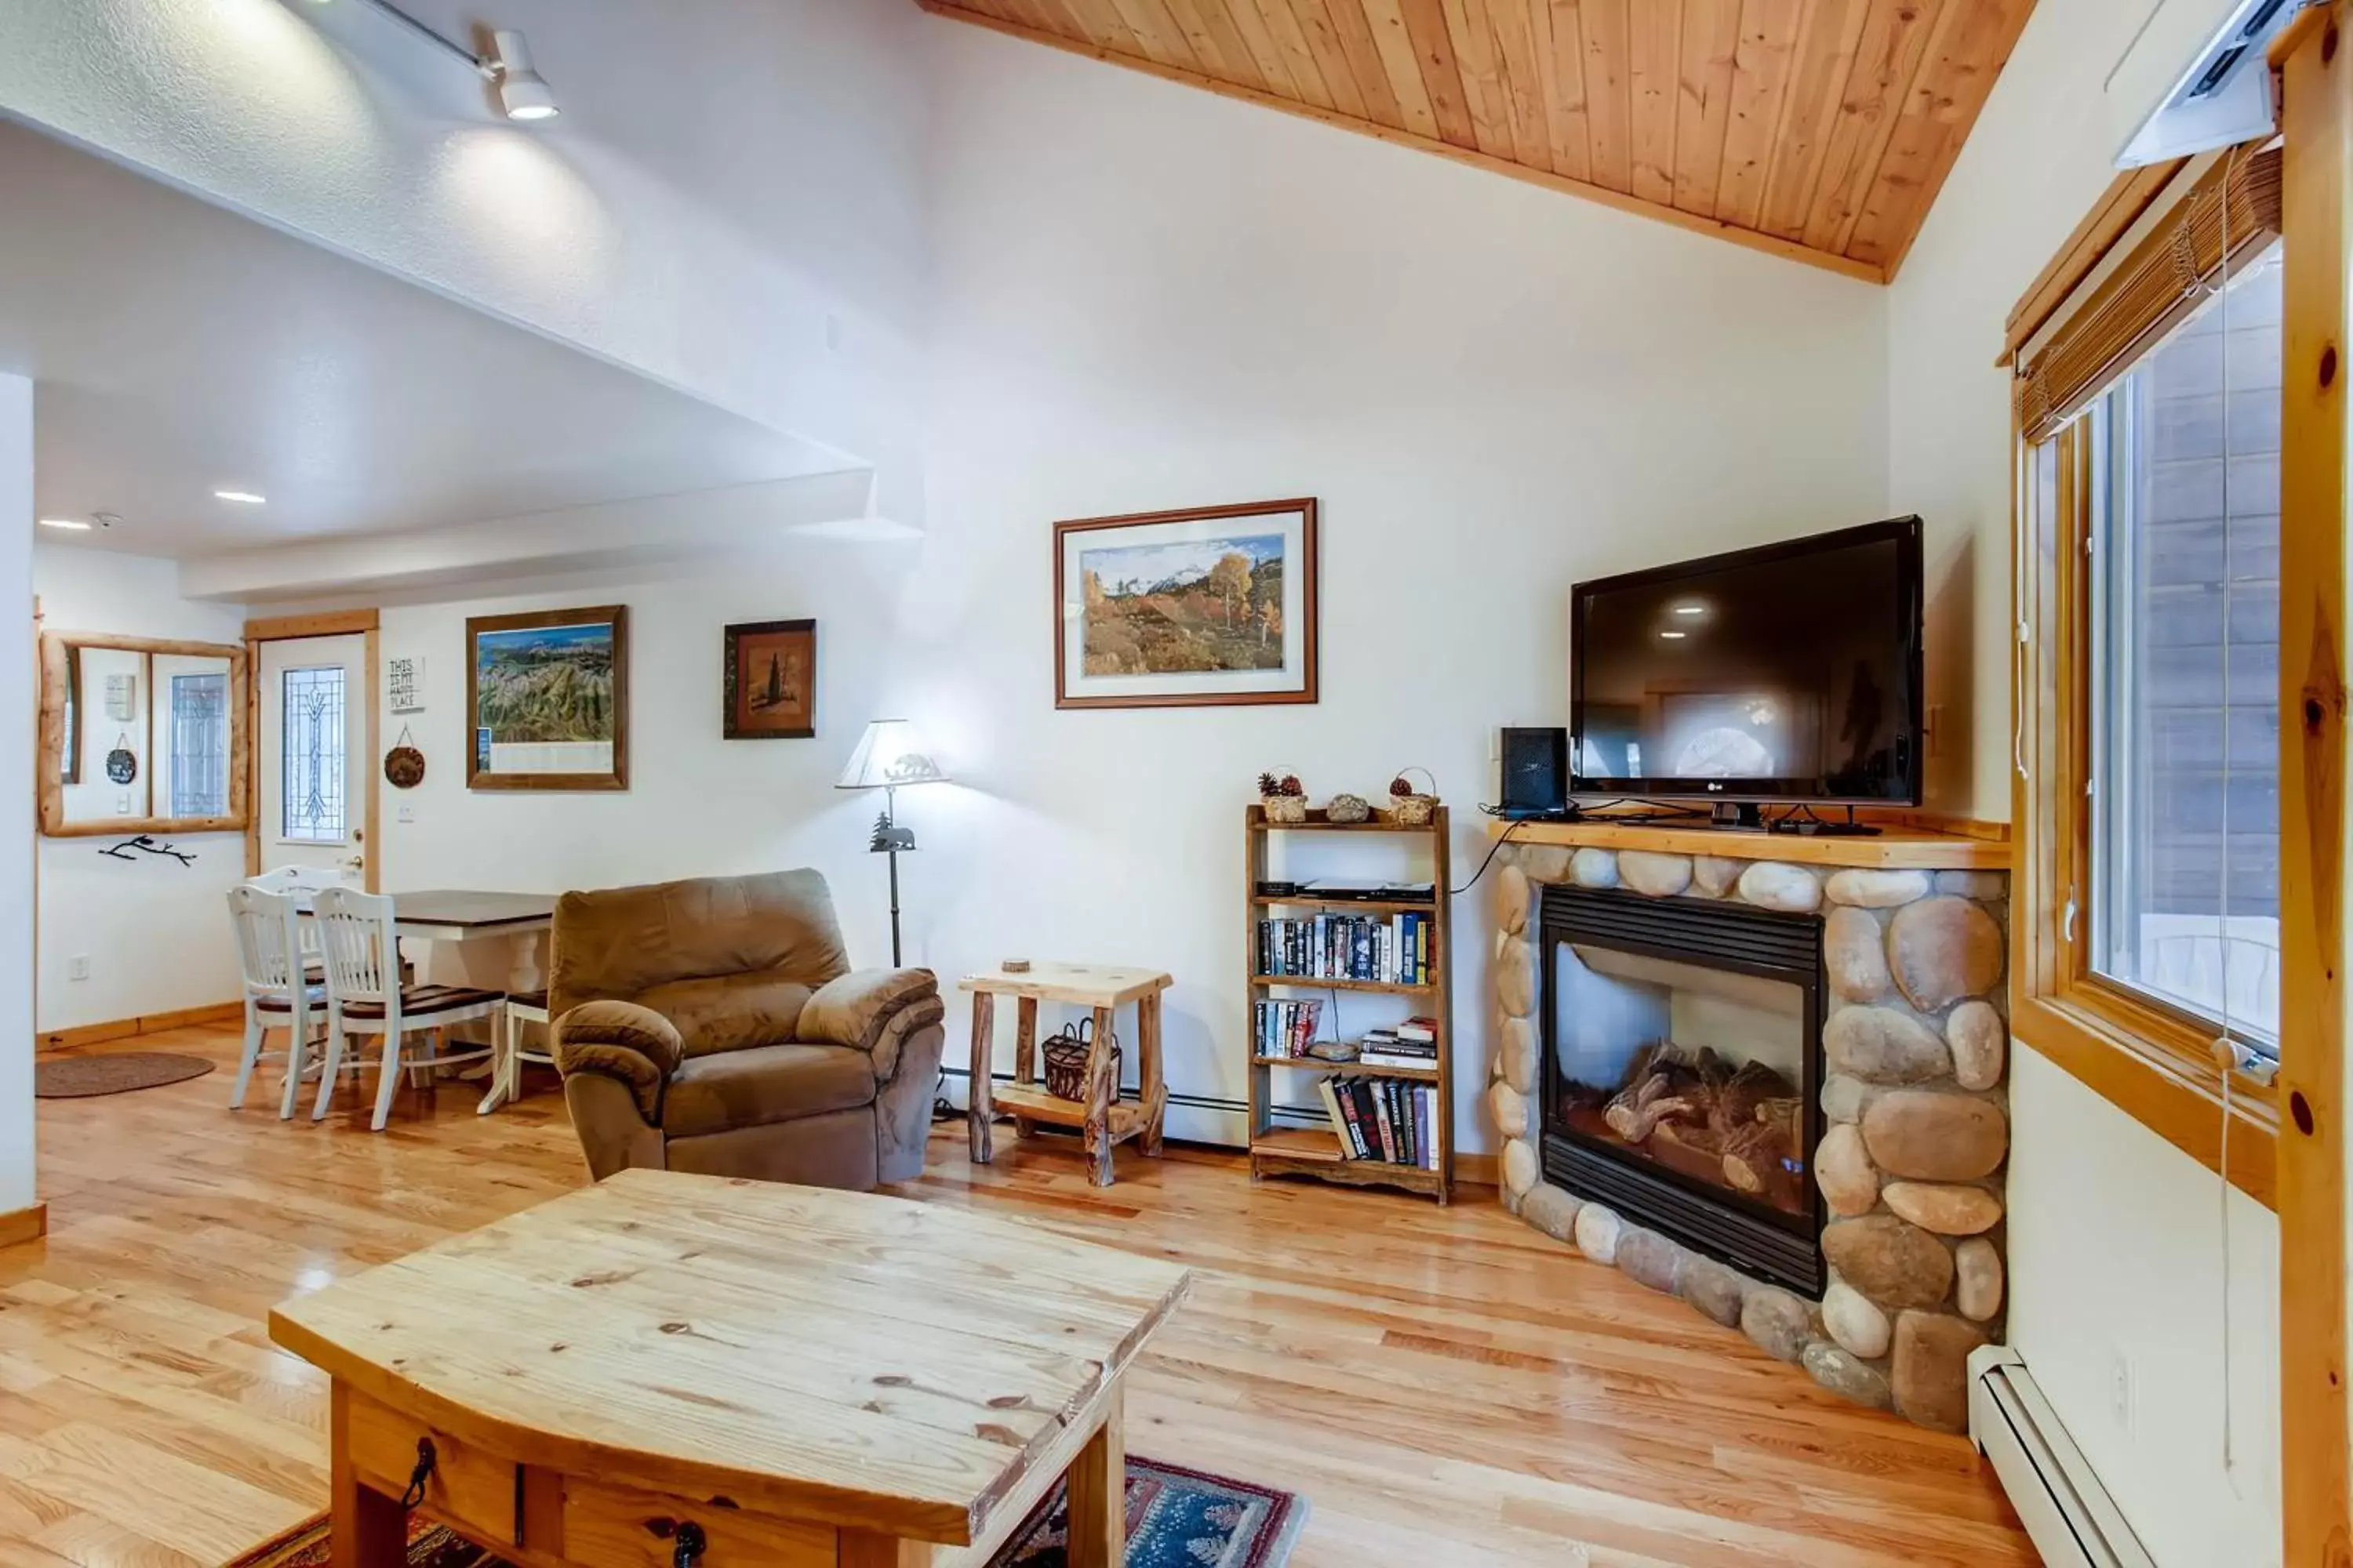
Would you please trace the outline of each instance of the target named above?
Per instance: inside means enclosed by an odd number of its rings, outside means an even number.
[[[33,383],[0,376],[0,604],[33,618]],[[33,1204],[33,639],[0,637],[0,1213]]]

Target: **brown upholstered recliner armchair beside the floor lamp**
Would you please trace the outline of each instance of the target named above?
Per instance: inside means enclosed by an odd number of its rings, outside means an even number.
[[[939,980],[852,971],[814,870],[565,893],[553,947],[555,1067],[598,1180],[922,1175]]]

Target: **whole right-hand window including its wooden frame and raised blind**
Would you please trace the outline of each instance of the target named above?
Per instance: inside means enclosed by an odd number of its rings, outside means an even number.
[[[2280,153],[2125,186],[2012,320],[2009,1023],[2271,1201],[2280,1095],[2212,1048],[2282,1011]]]

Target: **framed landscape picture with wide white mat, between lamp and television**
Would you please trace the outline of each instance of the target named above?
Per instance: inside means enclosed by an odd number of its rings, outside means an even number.
[[[1315,701],[1315,501],[1054,524],[1054,705]]]

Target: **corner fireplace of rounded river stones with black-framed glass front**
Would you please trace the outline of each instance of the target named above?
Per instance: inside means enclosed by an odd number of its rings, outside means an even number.
[[[1504,1201],[1847,1399],[1962,1429],[2005,1309],[2009,879],[1941,835],[1748,858],[1784,844],[1501,846]]]

